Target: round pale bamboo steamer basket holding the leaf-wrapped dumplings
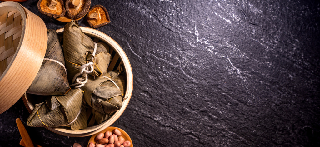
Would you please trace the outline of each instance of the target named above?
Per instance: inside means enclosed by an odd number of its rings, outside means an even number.
[[[63,29],[60,28],[57,31],[59,37],[63,38]],[[89,136],[96,134],[98,132],[101,132],[102,130],[109,127],[111,124],[113,124],[124,112],[125,108],[127,107],[131,95],[132,95],[132,87],[133,87],[133,77],[132,77],[132,69],[129,62],[129,59],[127,58],[126,54],[122,50],[122,48],[119,46],[118,43],[116,43],[111,37],[108,35],[92,29],[88,27],[81,27],[84,34],[88,35],[92,38],[94,42],[104,42],[109,45],[109,53],[111,54],[112,61],[109,64],[108,71],[116,70],[120,67],[120,65],[124,65],[125,74],[126,74],[126,83],[125,83],[125,90],[124,90],[124,100],[123,105],[120,108],[120,110],[116,111],[108,120],[102,122],[101,124],[95,125],[94,124],[94,118],[92,117],[91,109],[87,110],[87,124],[88,128],[81,129],[81,130],[71,130],[67,127],[56,127],[56,128],[48,128],[54,133],[65,135],[65,136],[72,136],[72,137],[83,137],[83,136]],[[62,43],[61,43],[62,44]],[[39,98],[40,97],[40,98]],[[31,95],[31,94],[25,94],[23,97],[23,102],[26,105],[28,111],[31,113],[33,110],[35,104],[41,103],[41,96]]]

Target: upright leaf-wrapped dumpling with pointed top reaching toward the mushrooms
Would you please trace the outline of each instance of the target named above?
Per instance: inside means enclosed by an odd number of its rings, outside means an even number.
[[[101,76],[107,72],[111,58],[108,50],[103,44],[94,43],[74,20],[66,24],[63,38],[63,52],[70,83],[73,83],[80,67],[90,61],[93,61],[94,69],[89,75]]]

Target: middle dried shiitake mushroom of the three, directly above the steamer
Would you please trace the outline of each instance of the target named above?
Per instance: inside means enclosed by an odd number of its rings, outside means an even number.
[[[91,0],[66,0],[66,11],[70,18],[79,19],[87,14]]]

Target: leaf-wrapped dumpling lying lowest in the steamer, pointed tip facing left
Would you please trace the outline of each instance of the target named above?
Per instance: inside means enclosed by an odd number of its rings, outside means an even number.
[[[72,130],[87,128],[86,110],[82,108],[83,92],[71,89],[68,94],[48,97],[36,104],[27,119],[30,127],[69,126]]]

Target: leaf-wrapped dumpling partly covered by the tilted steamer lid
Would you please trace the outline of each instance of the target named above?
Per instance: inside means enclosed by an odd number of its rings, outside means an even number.
[[[56,30],[47,30],[48,43],[44,61],[27,93],[37,95],[59,95],[68,93],[70,86],[61,44]]]

